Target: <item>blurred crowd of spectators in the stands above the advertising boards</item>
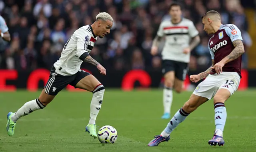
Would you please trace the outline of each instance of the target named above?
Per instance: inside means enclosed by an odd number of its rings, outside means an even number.
[[[50,69],[76,29],[92,24],[99,12],[108,12],[114,19],[113,27],[106,37],[98,38],[92,57],[115,70],[161,70],[161,58],[152,57],[150,48],[161,21],[170,19],[168,8],[172,1],[175,0],[0,0],[0,13],[12,35],[10,43],[0,39],[0,67]],[[222,23],[238,26],[245,50],[251,47],[248,21],[239,0],[178,1],[184,4],[182,16],[194,22],[202,40],[191,52],[190,70],[204,70],[211,64],[210,37],[201,23],[201,16],[208,10],[219,11]],[[159,51],[163,46],[164,40]],[[245,54],[243,68],[247,62]]]

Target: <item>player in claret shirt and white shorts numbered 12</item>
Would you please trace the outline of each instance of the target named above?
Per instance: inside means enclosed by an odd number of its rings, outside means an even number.
[[[212,66],[198,75],[191,75],[192,82],[204,79],[194,90],[188,101],[172,117],[160,135],[155,136],[148,146],[158,146],[170,140],[170,133],[197,107],[213,98],[215,131],[208,141],[211,146],[224,145],[223,131],[227,112],[224,102],[238,89],[241,79],[241,55],[244,53],[241,32],[233,24],[222,25],[220,14],[214,10],[202,17],[204,31],[213,34],[209,40]]]

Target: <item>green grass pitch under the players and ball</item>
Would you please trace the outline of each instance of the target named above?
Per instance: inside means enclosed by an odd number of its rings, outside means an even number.
[[[85,133],[90,115],[90,92],[60,92],[45,109],[20,119],[14,136],[5,131],[6,115],[40,92],[0,92],[0,152],[255,152],[255,90],[236,92],[227,102],[225,146],[211,147],[214,125],[213,102],[192,113],[158,147],[147,144],[160,134],[169,120],[160,119],[162,90],[122,92],[106,89],[97,125],[112,125],[118,131],[115,144],[101,144]],[[191,92],[174,94],[172,115]]]

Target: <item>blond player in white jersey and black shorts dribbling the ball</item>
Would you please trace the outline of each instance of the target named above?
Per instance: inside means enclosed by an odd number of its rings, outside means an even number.
[[[80,27],[71,35],[64,45],[60,59],[52,66],[49,80],[40,96],[25,103],[15,113],[8,113],[6,131],[9,136],[13,136],[18,119],[46,107],[58,92],[70,84],[75,88],[92,92],[90,120],[86,126],[86,131],[89,132],[90,136],[97,137],[95,121],[102,105],[105,88],[93,75],[80,70],[80,66],[82,62],[89,62],[98,68],[100,74],[106,75],[106,69],[89,53],[98,37],[103,38],[110,33],[112,25],[113,18],[108,13],[103,12],[96,16],[96,21],[92,25]]]

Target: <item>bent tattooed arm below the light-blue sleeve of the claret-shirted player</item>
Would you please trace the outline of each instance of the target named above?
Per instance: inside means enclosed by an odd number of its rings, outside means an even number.
[[[233,41],[233,45],[235,49],[233,49],[233,51],[228,56],[222,59],[222,62],[224,62],[225,64],[232,60],[235,60],[244,53],[244,45],[240,39]]]

